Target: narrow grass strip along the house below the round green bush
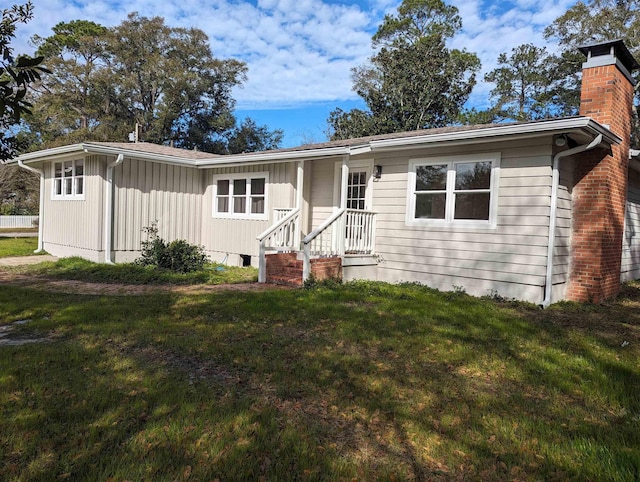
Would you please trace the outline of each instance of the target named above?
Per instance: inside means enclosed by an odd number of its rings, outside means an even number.
[[[16,271],[53,279],[123,284],[222,284],[246,283],[258,279],[258,271],[251,267],[210,264],[202,271],[173,273],[150,266],[138,266],[134,263],[105,265],[77,257],[22,266]]]

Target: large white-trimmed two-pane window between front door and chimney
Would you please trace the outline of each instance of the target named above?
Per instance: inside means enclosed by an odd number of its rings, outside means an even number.
[[[407,223],[495,226],[499,167],[496,153],[411,160]]]

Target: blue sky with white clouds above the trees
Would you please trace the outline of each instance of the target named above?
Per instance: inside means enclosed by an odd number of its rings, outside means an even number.
[[[11,0],[10,0],[11,1]],[[19,2],[20,0],[14,0]],[[197,27],[221,58],[243,60],[248,80],[234,91],[239,119],[281,128],[283,147],[326,140],[326,119],[335,107],[362,107],[351,91],[350,69],[371,55],[371,36],[399,1],[360,0],[33,0],[34,19],[20,26],[16,53],[33,53],[29,38],[50,35],[58,22],[93,20],[119,24],[131,11],[158,15],[171,26]],[[547,46],[542,31],[575,1],[452,0],[463,29],[450,47],[466,48],[493,69],[501,52],[522,43]],[[487,104],[491,85],[479,82],[469,104]]]

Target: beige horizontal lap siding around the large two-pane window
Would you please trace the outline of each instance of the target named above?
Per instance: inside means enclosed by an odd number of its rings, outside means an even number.
[[[500,295],[541,302],[545,285],[551,141],[512,141],[459,149],[411,151],[376,156],[382,178],[373,184],[377,215],[378,279],[417,281],[473,295]],[[473,150],[471,150],[473,149]],[[497,227],[458,228],[407,225],[407,173],[410,159],[472,153],[500,153]],[[561,196],[558,232],[562,243],[570,230],[570,203]],[[561,267],[566,246],[556,248]],[[559,269],[554,283],[563,283]]]

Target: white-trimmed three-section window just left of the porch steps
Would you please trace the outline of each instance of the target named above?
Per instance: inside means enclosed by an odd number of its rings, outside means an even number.
[[[214,176],[213,215],[267,219],[267,172]]]

